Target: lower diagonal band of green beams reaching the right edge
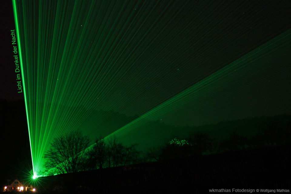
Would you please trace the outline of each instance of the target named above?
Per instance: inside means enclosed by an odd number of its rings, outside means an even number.
[[[159,146],[175,133],[175,131],[172,131],[172,134],[162,131],[159,124],[152,122],[160,120],[161,117],[165,118],[163,122],[173,124],[172,120],[176,118],[177,114],[187,112],[196,117],[194,120],[196,125],[205,123],[207,118],[197,117],[197,114],[204,112],[205,107],[215,106],[216,101],[221,98],[227,99],[229,103],[231,100],[239,99],[243,93],[249,93],[249,91],[253,93],[254,90],[259,90],[269,80],[288,77],[291,73],[291,66],[286,63],[291,61],[291,55],[286,55],[286,53],[291,53],[290,44],[291,29],[114,131],[105,137],[105,141],[116,136],[127,144],[139,142],[139,149],[144,150],[149,146],[149,142],[151,142],[151,146]],[[240,85],[240,82],[244,84]],[[244,99],[236,103],[243,104],[248,100]],[[223,114],[224,110],[220,112]],[[253,116],[256,116],[255,110],[248,110],[248,112],[253,112]],[[212,118],[215,116],[207,115]],[[224,115],[220,116],[221,119],[224,118]],[[188,119],[189,121],[193,122],[193,119]],[[189,131],[186,131],[186,135],[187,132]],[[185,135],[185,131],[179,131],[176,134]],[[159,141],[156,141],[157,139]]]

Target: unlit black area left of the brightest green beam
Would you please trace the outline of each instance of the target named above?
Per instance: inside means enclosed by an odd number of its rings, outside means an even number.
[[[0,6],[0,186],[7,179],[22,179],[31,166],[28,128],[25,117],[23,93],[18,93],[11,30],[15,30],[12,1],[3,1]],[[9,102],[2,101],[18,101]]]

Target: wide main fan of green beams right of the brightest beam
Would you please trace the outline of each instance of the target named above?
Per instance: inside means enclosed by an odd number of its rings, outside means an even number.
[[[92,140],[118,130],[115,134],[122,138],[122,131],[131,131],[148,141],[155,131],[130,130],[129,126],[142,126],[141,119],[153,118],[170,124],[177,124],[170,122],[175,120],[186,124],[206,121],[198,122],[201,115],[194,119],[187,116],[192,113],[183,112],[191,112],[192,106],[200,110],[209,105],[209,109],[212,104],[223,104],[227,95],[238,94],[222,94],[223,87],[219,90],[212,83],[236,75],[220,69],[289,29],[275,22],[274,31],[256,35],[271,19],[276,21],[283,4],[266,7],[258,3],[259,11],[253,12],[248,3],[13,0],[34,172],[42,170],[42,156],[53,139],[77,129]],[[242,15],[241,10],[249,14]],[[237,71],[255,74],[259,66]],[[220,74],[213,74],[218,70]],[[266,77],[268,73],[272,72],[266,70]],[[226,88],[237,87],[241,92],[248,85],[219,80]],[[252,84],[260,80],[253,76]],[[182,91],[187,88],[198,92],[186,95]],[[199,104],[182,103],[193,98]],[[147,117],[147,112],[155,111]],[[215,110],[210,116],[220,114]]]

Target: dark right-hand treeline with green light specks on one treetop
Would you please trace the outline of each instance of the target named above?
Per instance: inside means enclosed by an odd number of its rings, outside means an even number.
[[[225,123],[226,126],[232,123],[233,127],[239,126],[238,128],[241,128],[241,125],[253,128],[249,123],[258,123],[258,120],[264,121],[266,118],[268,118],[267,121],[263,126],[258,127],[253,136],[240,135],[234,128],[229,133],[229,137],[218,139],[213,137],[215,133],[210,135],[207,130],[205,132],[197,130],[184,139],[172,138],[163,146],[149,148],[146,156],[148,161],[160,161],[291,144],[290,115],[246,119],[245,124],[243,124],[244,120],[220,122],[216,124],[218,127],[212,125],[212,130],[220,128],[222,123]],[[204,127],[209,126],[211,125]]]

